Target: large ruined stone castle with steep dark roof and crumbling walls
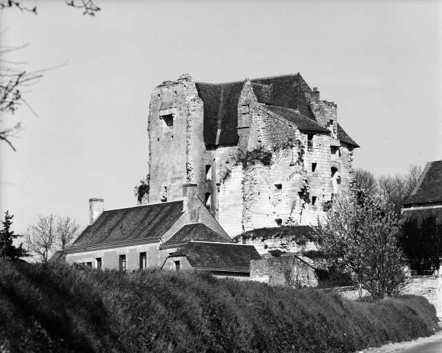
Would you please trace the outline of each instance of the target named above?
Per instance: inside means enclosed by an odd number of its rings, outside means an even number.
[[[298,74],[230,83],[189,74],[154,88],[148,188],[141,203],[177,200],[185,183],[230,237],[310,225],[352,183],[359,145]]]

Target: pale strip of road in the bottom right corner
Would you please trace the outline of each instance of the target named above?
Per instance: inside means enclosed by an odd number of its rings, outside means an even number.
[[[442,353],[442,331],[430,337],[409,342],[389,343],[381,347],[368,348],[358,353]]]

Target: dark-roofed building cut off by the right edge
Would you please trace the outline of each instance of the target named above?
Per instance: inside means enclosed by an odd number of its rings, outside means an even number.
[[[416,216],[421,221],[433,214],[442,221],[442,161],[428,162],[419,181],[403,204],[401,220]]]

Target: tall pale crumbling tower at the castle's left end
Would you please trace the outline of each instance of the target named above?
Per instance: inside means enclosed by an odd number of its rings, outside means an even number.
[[[177,81],[165,81],[154,88],[148,132],[148,200],[155,203],[181,199],[183,183],[201,180],[205,152],[203,103],[188,75]],[[203,194],[203,185],[199,192]]]

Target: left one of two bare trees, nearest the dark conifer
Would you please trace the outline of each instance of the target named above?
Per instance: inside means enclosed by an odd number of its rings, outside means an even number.
[[[29,225],[25,235],[25,244],[28,252],[38,256],[41,261],[48,262],[57,241],[57,225],[55,216],[39,215],[37,223]]]

